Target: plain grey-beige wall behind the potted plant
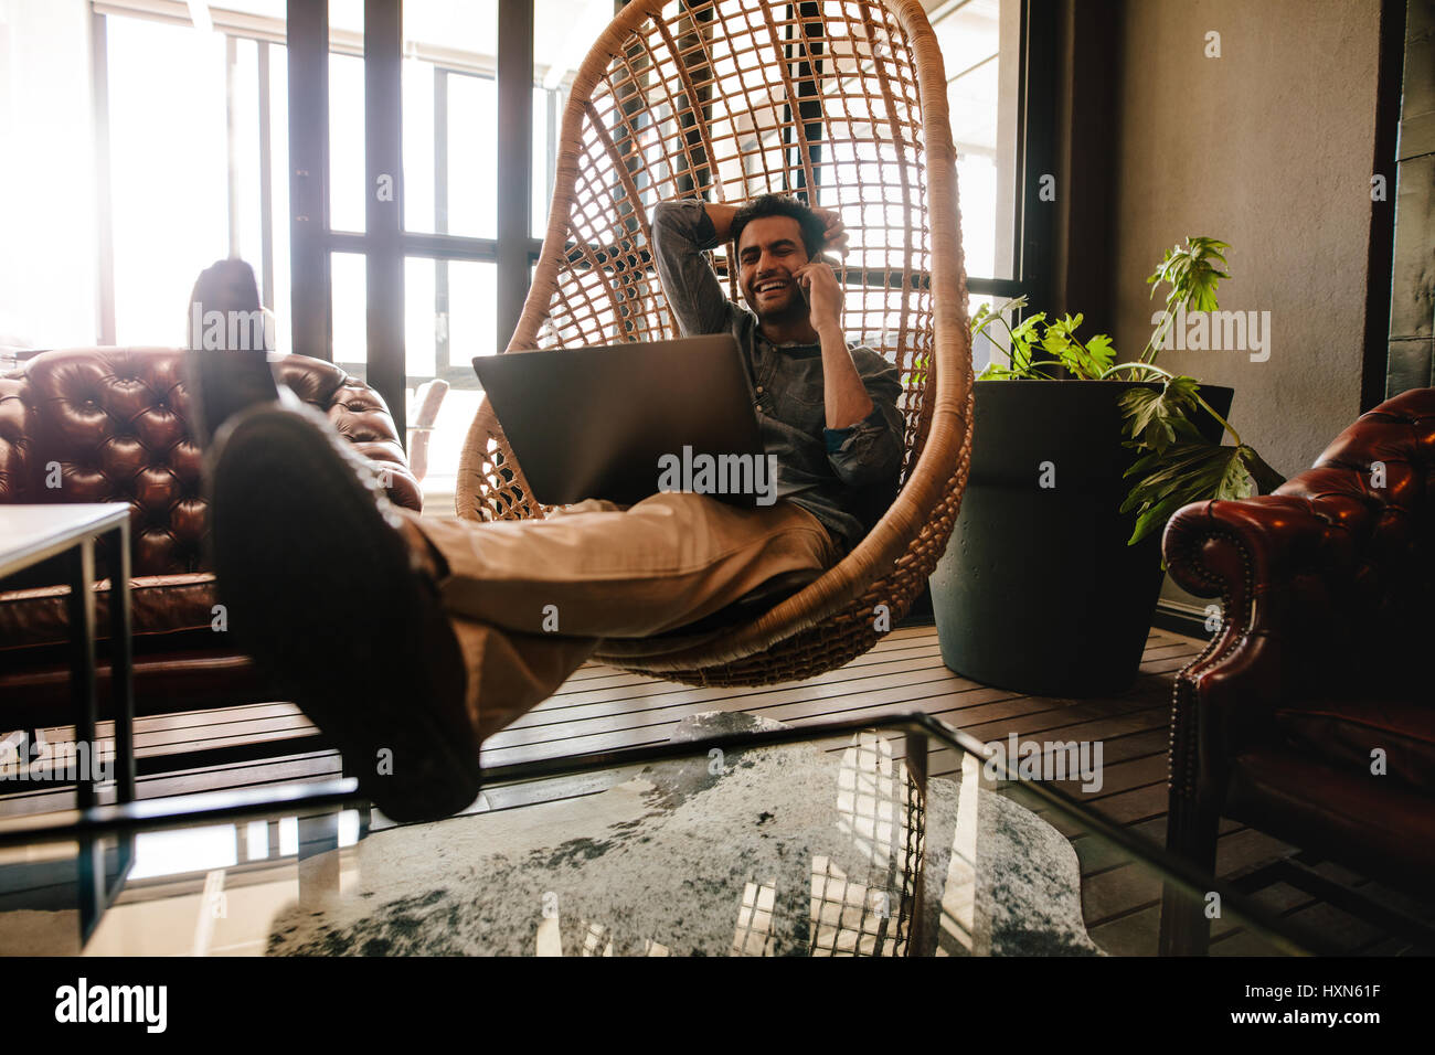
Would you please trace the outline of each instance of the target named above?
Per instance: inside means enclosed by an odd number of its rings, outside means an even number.
[[[1241,438],[1299,472],[1359,413],[1379,0],[1128,0],[1122,37],[1116,349],[1151,334],[1145,278],[1167,248],[1231,243],[1220,303],[1271,313],[1270,359],[1159,362],[1233,386]]]

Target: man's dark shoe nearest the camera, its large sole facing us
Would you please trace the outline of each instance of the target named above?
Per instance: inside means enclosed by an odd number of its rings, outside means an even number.
[[[479,791],[468,673],[429,561],[362,458],[310,408],[255,406],[210,452],[230,629],[397,821]]]

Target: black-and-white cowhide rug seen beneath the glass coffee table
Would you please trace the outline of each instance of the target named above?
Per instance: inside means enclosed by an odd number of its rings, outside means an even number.
[[[674,739],[772,725],[715,712]],[[653,765],[330,853],[352,881],[280,913],[270,955],[1099,955],[1055,828],[974,779],[931,779],[921,810],[871,733]]]

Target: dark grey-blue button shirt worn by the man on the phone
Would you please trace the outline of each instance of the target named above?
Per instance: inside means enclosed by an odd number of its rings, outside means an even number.
[[[653,257],[683,336],[732,333],[748,366],[763,449],[776,456],[776,497],[811,512],[845,554],[897,494],[904,421],[897,367],[862,344],[848,344],[872,412],[842,429],[827,428],[821,344],[772,344],[758,317],[723,294],[705,250],[718,244],[702,201],[664,201],[653,210]]]

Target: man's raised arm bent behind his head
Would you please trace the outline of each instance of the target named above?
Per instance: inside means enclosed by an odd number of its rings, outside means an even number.
[[[722,333],[732,323],[732,303],[703,255],[728,241],[732,205],[696,200],[662,201],[653,207],[653,263],[667,306],[683,336]]]

